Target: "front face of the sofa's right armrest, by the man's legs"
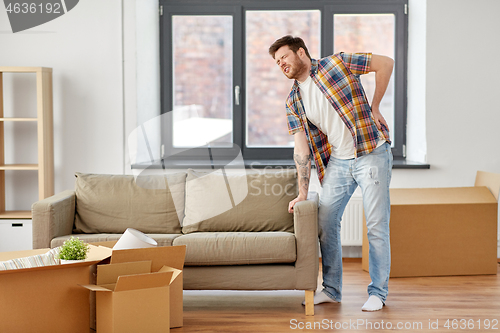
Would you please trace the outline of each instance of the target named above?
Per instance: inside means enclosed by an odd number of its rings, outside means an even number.
[[[298,290],[316,290],[318,285],[318,205],[319,196],[309,192],[307,200],[293,207],[294,231],[297,242],[295,262]]]

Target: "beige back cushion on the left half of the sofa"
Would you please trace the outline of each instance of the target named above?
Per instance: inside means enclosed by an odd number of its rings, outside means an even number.
[[[121,234],[127,228],[180,233],[185,179],[186,173],[137,181],[128,175],[76,173],[75,233]]]

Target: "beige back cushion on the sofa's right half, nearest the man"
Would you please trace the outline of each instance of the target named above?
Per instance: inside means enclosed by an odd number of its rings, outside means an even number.
[[[288,203],[296,196],[295,170],[224,174],[190,169],[182,232],[293,232]]]

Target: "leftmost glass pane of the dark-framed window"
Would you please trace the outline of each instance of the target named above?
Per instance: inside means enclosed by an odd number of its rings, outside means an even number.
[[[173,147],[231,143],[233,17],[174,15],[172,37]]]

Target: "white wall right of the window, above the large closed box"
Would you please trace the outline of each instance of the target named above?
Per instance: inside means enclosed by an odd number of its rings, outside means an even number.
[[[410,0],[410,20],[416,1]],[[394,170],[392,187],[471,186],[477,170],[500,173],[499,11],[496,0],[427,1],[425,49],[412,52],[425,57],[421,70],[431,169]],[[415,53],[412,57],[418,59]]]

